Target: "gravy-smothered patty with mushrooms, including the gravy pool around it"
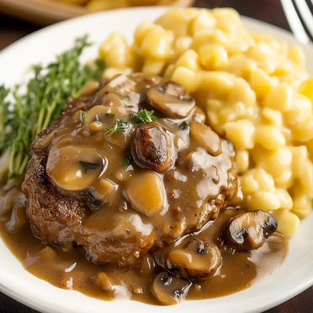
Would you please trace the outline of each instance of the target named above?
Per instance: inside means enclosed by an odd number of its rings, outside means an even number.
[[[132,74],[84,93],[33,142],[26,198],[0,197],[2,237],[29,272],[170,305],[236,292],[280,266],[277,220],[229,207],[240,205],[233,145],[182,86]]]

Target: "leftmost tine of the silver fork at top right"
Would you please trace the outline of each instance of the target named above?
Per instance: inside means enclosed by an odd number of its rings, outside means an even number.
[[[302,26],[301,20],[295,10],[295,7],[291,0],[280,0],[281,6],[285,12],[289,26],[300,42],[308,44],[310,42],[309,36],[306,34],[305,29]]]

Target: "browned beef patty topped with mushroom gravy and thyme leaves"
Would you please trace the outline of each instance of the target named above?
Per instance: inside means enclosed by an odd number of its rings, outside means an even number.
[[[235,153],[180,85],[118,75],[92,92],[31,145],[27,215],[43,243],[127,266],[218,216],[237,187]]]

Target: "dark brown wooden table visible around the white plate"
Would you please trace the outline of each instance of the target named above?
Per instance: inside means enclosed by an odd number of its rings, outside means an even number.
[[[279,0],[197,0],[195,6],[206,8],[233,7],[241,15],[290,30]],[[0,14],[0,50],[39,28],[37,25]],[[0,293],[0,312],[37,313],[2,293]],[[266,313],[313,313],[313,287],[282,305],[266,311]]]

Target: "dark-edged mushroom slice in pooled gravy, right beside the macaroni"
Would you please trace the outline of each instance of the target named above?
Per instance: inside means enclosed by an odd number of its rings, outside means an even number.
[[[277,229],[277,219],[262,210],[240,214],[227,223],[226,237],[234,246],[255,249]]]

